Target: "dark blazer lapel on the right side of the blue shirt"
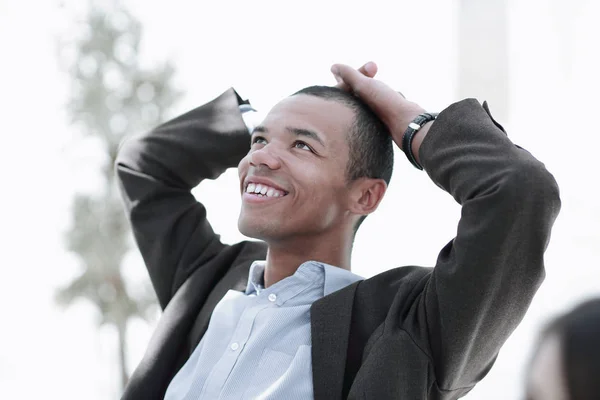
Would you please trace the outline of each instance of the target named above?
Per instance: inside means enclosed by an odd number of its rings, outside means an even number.
[[[323,297],[310,309],[315,400],[342,398],[354,293],[359,283]]]

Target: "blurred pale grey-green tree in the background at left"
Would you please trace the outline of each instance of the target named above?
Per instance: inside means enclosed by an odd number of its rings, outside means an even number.
[[[173,88],[174,70],[169,63],[155,69],[141,66],[140,23],[118,2],[110,9],[103,7],[91,2],[80,34],[59,43],[59,59],[72,83],[69,117],[84,139],[101,144],[105,161],[99,168],[103,181],[99,194],[80,193],[74,199],[66,242],[83,271],[58,290],[56,299],[65,306],[87,299],[98,308],[100,325],[116,328],[124,387],[128,321],[147,319],[156,298],[149,279],[128,285],[122,273],[132,240],[113,165],[125,133],[140,133],[160,123],[180,93]]]

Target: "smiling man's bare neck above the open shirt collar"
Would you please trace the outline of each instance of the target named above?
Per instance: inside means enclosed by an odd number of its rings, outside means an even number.
[[[320,261],[350,271],[352,239],[295,239],[269,243],[265,268],[265,288],[292,276],[306,261]]]

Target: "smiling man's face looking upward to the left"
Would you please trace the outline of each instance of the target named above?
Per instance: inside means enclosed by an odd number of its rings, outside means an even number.
[[[346,137],[353,121],[350,108],[315,96],[278,103],[255,129],[238,166],[240,232],[275,242],[342,229],[349,201]]]

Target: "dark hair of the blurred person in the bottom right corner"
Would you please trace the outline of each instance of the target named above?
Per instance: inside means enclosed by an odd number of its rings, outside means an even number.
[[[543,331],[535,355],[544,339],[553,335],[560,343],[569,398],[600,399],[600,298],[585,301],[553,320]]]

